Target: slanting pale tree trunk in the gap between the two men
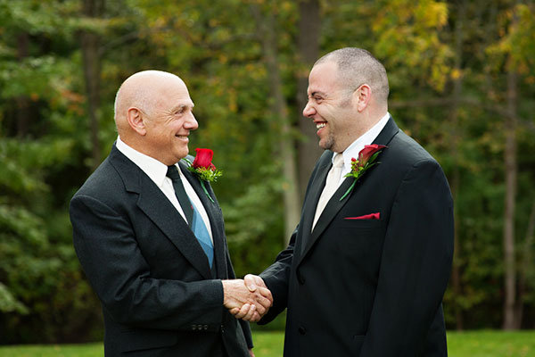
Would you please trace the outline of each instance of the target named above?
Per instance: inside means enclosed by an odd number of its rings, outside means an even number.
[[[280,128],[279,156],[283,161],[284,245],[287,245],[300,219],[300,198],[297,187],[294,142],[288,118],[288,106],[283,93],[283,80],[279,71],[276,45],[276,26],[273,15],[264,16],[258,5],[251,5],[257,21],[262,43],[263,59],[268,68],[269,92],[273,95],[272,112]]]

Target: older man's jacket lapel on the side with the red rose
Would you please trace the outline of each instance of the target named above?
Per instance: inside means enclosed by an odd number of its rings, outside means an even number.
[[[212,232],[213,237],[213,244],[214,244],[214,257],[216,262],[216,269],[218,272],[218,277],[226,278],[227,277],[227,270],[226,270],[226,258],[225,258],[225,232],[223,230],[224,222],[223,217],[221,214],[221,210],[219,209],[219,205],[216,201],[216,196],[214,195],[210,185],[205,182],[204,187],[206,187],[208,194],[210,197],[214,200],[214,202],[210,201],[210,198],[208,198],[208,195],[206,195],[206,192],[202,189],[201,180],[198,179],[193,172],[190,170],[187,170],[185,162],[182,160],[178,162],[178,166],[180,167],[180,170],[185,175],[185,178],[188,180],[190,185],[193,187],[193,190],[195,191],[195,194],[199,197],[201,200],[202,206],[204,207],[204,210],[208,214],[208,218],[210,220],[210,228]],[[201,245],[199,245],[201,247]],[[202,248],[201,248],[202,249]],[[206,254],[204,254],[206,257]],[[208,266],[208,259],[206,259],[206,263]],[[208,266],[210,269],[210,266]]]

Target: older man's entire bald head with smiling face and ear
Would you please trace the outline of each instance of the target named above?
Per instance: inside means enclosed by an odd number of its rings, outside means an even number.
[[[115,123],[120,139],[141,154],[172,165],[188,154],[197,129],[193,101],[182,79],[163,71],[142,71],[119,87]]]

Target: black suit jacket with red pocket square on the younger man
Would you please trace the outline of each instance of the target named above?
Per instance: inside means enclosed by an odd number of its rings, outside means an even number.
[[[288,308],[284,356],[445,356],[441,301],[453,203],[440,165],[390,119],[375,165],[327,203],[310,233],[332,152],[318,160],[290,245],[260,276]],[[348,220],[380,212],[380,220]]]

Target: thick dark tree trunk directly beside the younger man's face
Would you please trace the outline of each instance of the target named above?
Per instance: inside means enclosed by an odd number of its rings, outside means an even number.
[[[307,87],[309,87],[309,71],[319,56],[319,2],[318,0],[302,0],[299,2],[299,34],[298,34],[298,71],[297,71],[297,118],[302,135],[298,145],[299,193],[300,202],[305,198],[309,176],[317,158],[323,153],[318,145],[316,127],[312,120],[303,117],[302,111],[307,104]]]

